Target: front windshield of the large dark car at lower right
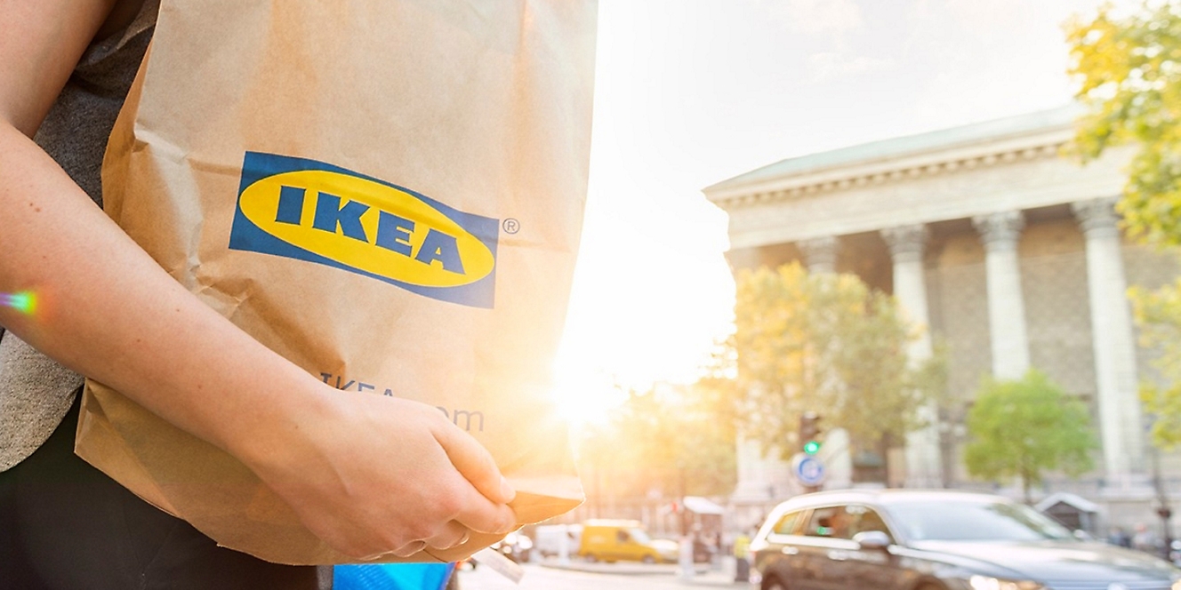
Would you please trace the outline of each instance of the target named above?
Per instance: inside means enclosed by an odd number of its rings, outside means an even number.
[[[888,509],[912,540],[1074,539],[1064,526],[1024,504],[914,502]]]

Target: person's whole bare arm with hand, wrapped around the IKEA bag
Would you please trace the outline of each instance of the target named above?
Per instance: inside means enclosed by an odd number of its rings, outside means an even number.
[[[331,388],[201,303],[30,137],[115,0],[0,0],[0,324],[254,470],[353,557],[515,527],[489,453],[437,409]]]

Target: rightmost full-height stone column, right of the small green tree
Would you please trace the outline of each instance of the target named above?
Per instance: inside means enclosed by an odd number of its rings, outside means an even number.
[[[1108,486],[1125,487],[1135,474],[1144,473],[1144,442],[1135,332],[1125,295],[1128,281],[1115,201],[1078,202],[1071,204],[1071,210],[1087,236],[1087,286],[1105,479]]]

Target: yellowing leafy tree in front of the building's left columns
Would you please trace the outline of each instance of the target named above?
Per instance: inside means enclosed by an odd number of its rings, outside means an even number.
[[[809,274],[798,263],[737,275],[732,396],[744,435],[778,448],[796,445],[798,417],[843,427],[862,448],[924,426],[918,409],[933,387],[912,366],[918,332],[892,297],[854,275]],[[883,453],[885,454],[885,453]]]

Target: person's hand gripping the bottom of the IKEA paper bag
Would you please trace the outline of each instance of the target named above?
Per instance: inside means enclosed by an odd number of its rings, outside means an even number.
[[[243,453],[318,537],[357,558],[448,549],[517,527],[491,455],[431,406],[328,388],[327,411]],[[322,412],[322,413],[321,413]],[[241,457],[241,455],[240,455]]]

